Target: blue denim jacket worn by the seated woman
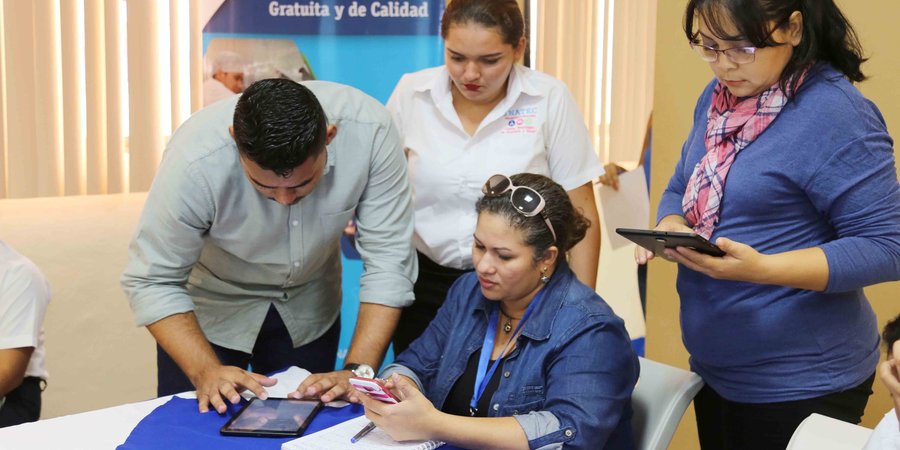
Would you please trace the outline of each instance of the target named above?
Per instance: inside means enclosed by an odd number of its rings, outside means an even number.
[[[514,417],[532,449],[631,449],[639,365],[622,319],[561,263],[506,357],[490,417]],[[437,317],[383,375],[416,380],[440,409],[480,352],[491,301],[474,273],[453,284]]]

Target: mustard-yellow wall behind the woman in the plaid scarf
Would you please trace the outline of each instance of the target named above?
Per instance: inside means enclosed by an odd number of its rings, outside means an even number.
[[[678,160],[682,142],[690,129],[697,95],[712,76],[707,65],[691,53],[685,42],[681,29],[685,4],[685,1],[673,0],[658,2],[651,211],[656,210]],[[870,79],[859,87],[881,109],[888,130],[896,138],[900,136],[900,89],[897,88],[900,86],[900,49],[896,48],[895,22],[900,17],[900,2],[839,0],[838,4],[856,27],[863,48],[871,58],[863,66]],[[894,154],[896,157],[896,147]],[[687,367],[674,286],[675,266],[664,261],[652,262],[648,287],[647,354],[659,361]],[[878,314],[879,326],[900,312],[900,283],[873,286],[866,293]],[[869,400],[863,425],[873,427],[890,408],[887,392],[876,381],[875,394]],[[695,430],[691,410],[670,448],[697,448]]]

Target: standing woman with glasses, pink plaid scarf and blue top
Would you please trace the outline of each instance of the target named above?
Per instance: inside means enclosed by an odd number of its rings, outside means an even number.
[[[863,288],[900,279],[893,141],[852,85],[865,59],[833,0],[691,0],[684,29],[715,78],[656,229],[726,252],[658,255],[679,265],[684,344],[707,383],[700,443],[783,449],[811,413],[859,423],[871,394]]]

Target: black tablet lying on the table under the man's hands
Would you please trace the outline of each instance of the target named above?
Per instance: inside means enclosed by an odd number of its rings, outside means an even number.
[[[322,406],[322,402],[318,400],[253,398],[219,430],[219,433],[228,436],[300,436]]]

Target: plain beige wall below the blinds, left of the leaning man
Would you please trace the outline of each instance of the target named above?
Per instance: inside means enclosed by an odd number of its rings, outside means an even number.
[[[43,419],[156,396],[155,342],[135,326],[119,287],[145,198],[0,200],[0,239],[31,259],[50,283]]]

